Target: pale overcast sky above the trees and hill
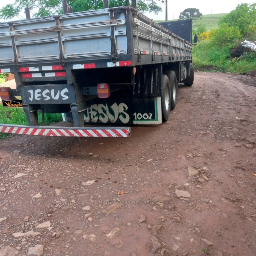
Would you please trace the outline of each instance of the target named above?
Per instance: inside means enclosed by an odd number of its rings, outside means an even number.
[[[5,6],[6,4],[13,4],[15,0],[1,0],[0,2],[0,8]],[[164,0],[165,2],[166,0]],[[238,4],[242,3],[249,3],[252,4],[251,1],[242,1],[242,0],[231,0],[231,1],[223,1],[223,0],[183,0],[183,1],[177,1],[177,0],[167,0],[167,6],[168,6],[168,20],[172,19],[178,19],[180,16],[180,12],[187,8],[197,8],[199,11],[205,15],[205,14],[215,14],[215,13],[229,13],[232,10],[236,9],[236,6]],[[146,16],[148,16],[151,19],[154,20],[165,20],[165,4],[159,3],[159,6],[163,8],[163,11],[159,13],[158,15],[153,13],[145,13]],[[24,12],[21,13],[23,17],[25,17]],[[31,15],[32,16],[32,15]],[[19,20],[19,18],[14,18],[13,20]],[[0,20],[0,22],[3,22],[3,20]]]

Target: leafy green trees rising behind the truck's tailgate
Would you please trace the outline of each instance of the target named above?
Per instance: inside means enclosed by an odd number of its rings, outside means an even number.
[[[140,12],[162,11],[157,2],[160,0],[109,0],[109,7],[133,6]],[[73,12],[97,10],[103,8],[103,0],[67,0]],[[14,4],[7,4],[0,9],[0,18],[4,20],[19,16],[28,7],[33,17],[51,16],[63,13],[61,0],[15,0]]]

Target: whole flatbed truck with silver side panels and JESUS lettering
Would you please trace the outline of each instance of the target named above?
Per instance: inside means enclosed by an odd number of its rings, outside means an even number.
[[[168,120],[178,84],[194,81],[192,20],[176,34],[164,23],[130,6],[0,23],[0,73],[17,85],[1,87],[0,97],[28,120],[0,132],[129,137],[132,125]],[[39,112],[72,124],[39,126]]]

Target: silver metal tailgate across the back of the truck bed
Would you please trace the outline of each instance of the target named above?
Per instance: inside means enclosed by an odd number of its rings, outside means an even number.
[[[127,54],[126,26],[119,9],[0,23],[0,64]]]

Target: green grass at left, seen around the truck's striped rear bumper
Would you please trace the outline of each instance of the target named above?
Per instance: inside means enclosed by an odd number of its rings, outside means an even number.
[[[42,125],[42,113],[38,113],[39,125]],[[44,114],[44,124],[54,124],[62,121],[61,114]],[[0,105],[0,124],[28,125],[27,117],[23,108],[4,108]],[[8,133],[0,133],[0,140],[11,136]]]

